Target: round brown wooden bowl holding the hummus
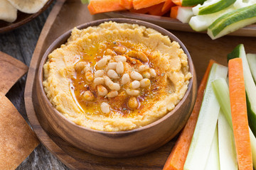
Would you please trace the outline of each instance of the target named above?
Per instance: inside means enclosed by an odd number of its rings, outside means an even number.
[[[98,26],[100,23],[106,21],[137,23],[140,26],[146,26],[146,28],[153,28],[163,35],[168,35],[171,40],[175,40],[181,45],[186,55],[188,55],[188,64],[192,78],[189,81],[186,94],[174,110],[167,113],[159,120],[156,120],[154,123],[142,128],[120,132],[104,132],[84,128],[65,118],[53,107],[43,90],[43,64],[46,63],[50,52],[53,52],[53,50],[60,47],[60,45],[68,40],[71,30],[55,40],[43,55],[36,78],[36,94],[39,103],[36,107],[39,107],[38,109],[45,115],[48,125],[50,125],[63,140],[70,142],[71,145],[102,157],[133,157],[151,152],[166,144],[166,142],[169,142],[169,140],[177,135],[186,124],[196,99],[196,72],[191,56],[183,43],[169,31],[154,24],[126,18],[111,18],[85,23],[77,28],[82,29],[89,26]]]

